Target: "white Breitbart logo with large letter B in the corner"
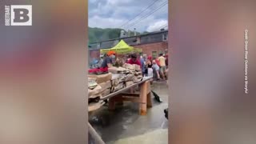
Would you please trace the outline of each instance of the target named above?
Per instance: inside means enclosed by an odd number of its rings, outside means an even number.
[[[32,6],[5,6],[5,20],[6,26],[32,26]]]

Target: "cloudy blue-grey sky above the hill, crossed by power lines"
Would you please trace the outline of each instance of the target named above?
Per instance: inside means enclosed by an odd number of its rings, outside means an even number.
[[[150,6],[153,2],[154,5]],[[140,32],[160,30],[168,22],[168,4],[164,5],[166,2],[167,0],[89,0],[89,26],[125,30],[136,28]],[[145,10],[148,6],[150,8]],[[158,8],[158,11],[150,14]],[[138,15],[142,10],[145,11]],[[142,19],[148,14],[149,17]],[[129,21],[132,18],[135,19]],[[134,23],[134,26],[129,26]]]

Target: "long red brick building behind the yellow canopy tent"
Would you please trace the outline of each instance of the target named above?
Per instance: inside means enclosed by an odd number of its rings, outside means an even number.
[[[128,45],[142,49],[142,54],[157,57],[158,54],[166,54],[168,50],[168,30],[160,30],[149,34],[132,37],[115,38],[107,41],[92,43],[89,45],[90,60],[99,58],[100,49],[109,49],[124,40]]]

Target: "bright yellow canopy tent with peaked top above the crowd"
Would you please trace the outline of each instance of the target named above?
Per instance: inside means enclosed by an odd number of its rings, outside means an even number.
[[[138,48],[134,48],[133,46],[129,46],[127,45],[126,42],[124,42],[123,40],[121,40],[120,42],[118,42],[118,44],[116,46],[114,46],[113,48],[110,49],[102,49],[101,50],[101,54],[106,54],[108,51],[114,51],[117,54],[128,54],[128,53],[139,53],[142,52],[142,49],[138,49]]]

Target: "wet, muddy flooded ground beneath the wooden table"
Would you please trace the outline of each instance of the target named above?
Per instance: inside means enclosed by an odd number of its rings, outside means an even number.
[[[161,98],[162,103],[154,100],[153,107],[146,116],[138,114],[138,103],[124,102],[110,111],[107,105],[90,115],[90,123],[107,144],[166,143],[168,142],[168,121],[163,112],[168,107],[166,82],[154,82],[152,90]],[[157,142],[155,142],[155,141]]]

